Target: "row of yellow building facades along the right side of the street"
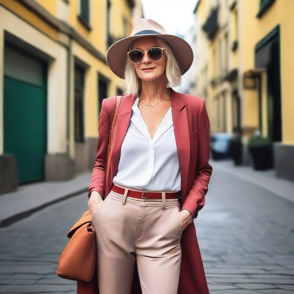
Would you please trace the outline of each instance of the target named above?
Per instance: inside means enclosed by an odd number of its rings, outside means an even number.
[[[293,9],[291,0],[199,0],[194,11],[204,57],[194,91],[206,93],[211,131],[240,133],[251,164],[246,144],[260,130],[273,142],[276,176],[292,181]]]

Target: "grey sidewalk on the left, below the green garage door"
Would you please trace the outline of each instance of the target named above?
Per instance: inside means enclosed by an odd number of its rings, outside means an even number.
[[[69,181],[39,182],[19,186],[17,191],[0,195],[0,227],[10,225],[45,206],[85,193],[92,171]]]

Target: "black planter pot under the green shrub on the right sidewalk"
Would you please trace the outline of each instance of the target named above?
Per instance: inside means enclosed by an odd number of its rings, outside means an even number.
[[[273,150],[271,146],[251,146],[249,152],[253,159],[255,170],[266,170],[273,168]]]

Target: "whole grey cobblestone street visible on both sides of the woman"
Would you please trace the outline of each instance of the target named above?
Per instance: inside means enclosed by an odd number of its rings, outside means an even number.
[[[83,193],[1,228],[0,293],[76,293],[55,271],[87,209]],[[214,168],[195,220],[210,293],[294,293],[293,212],[293,202]]]

